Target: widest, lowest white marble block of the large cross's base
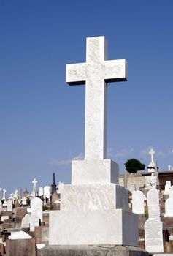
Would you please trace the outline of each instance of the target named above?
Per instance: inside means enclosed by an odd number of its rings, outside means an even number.
[[[112,211],[50,211],[49,244],[138,246],[138,217]],[[130,231],[129,231],[130,230]],[[133,236],[129,236],[133,234]]]

